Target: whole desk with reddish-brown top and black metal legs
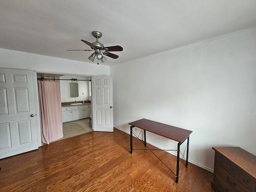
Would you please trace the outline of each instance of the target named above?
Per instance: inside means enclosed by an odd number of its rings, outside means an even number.
[[[129,123],[130,126],[130,153],[132,154],[132,128],[138,127],[144,130],[144,145],[146,147],[146,131],[164,136],[178,142],[177,147],[177,169],[176,169],[176,183],[179,181],[179,163],[180,163],[180,145],[187,139],[187,156],[186,156],[186,167],[188,167],[188,146],[189,146],[189,135],[192,133],[190,130],[158,123],[155,121],[141,119]],[[148,148],[148,150],[150,150]],[[151,150],[150,150],[151,151]],[[151,151],[152,152],[152,151]],[[169,168],[170,169],[170,168]]]

